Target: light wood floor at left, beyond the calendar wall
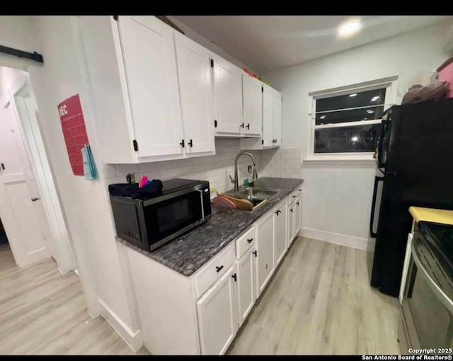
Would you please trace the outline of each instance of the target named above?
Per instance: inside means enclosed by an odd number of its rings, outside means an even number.
[[[146,349],[139,353],[147,353]],[[134,355],[99,316],[86,312],[79,277],[51,258],[18,268],[0,246],[0,355]]]

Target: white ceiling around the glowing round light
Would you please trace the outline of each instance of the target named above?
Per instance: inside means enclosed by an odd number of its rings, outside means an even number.
[[[260,74],[368,42],[423,28],[453,16],[361,16],[362,32],[337,38],[357,16],[175,16]]]

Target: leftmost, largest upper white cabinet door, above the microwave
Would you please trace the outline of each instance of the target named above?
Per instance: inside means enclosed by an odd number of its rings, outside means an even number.
[[[173,29],[154,16],[120,16],[118,27],[138,155],[183,154]]]

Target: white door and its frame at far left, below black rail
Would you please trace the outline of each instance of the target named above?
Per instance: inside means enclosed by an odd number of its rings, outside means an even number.
[[[0,67],[0,217],[17,265],[52,257],[76,268],[28,73]]]

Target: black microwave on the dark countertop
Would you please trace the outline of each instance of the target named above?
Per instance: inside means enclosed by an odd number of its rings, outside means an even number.
[[[117,236],[152,251],[211,217],[210,183],[162,182],[161,195],[144,200],[110,195]]]

